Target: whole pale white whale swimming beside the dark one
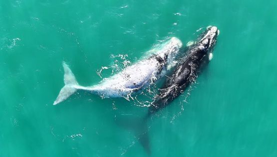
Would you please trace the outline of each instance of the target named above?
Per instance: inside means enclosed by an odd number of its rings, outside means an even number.
[[[89,87],[80,86],[69,66],[63,63],[65,86],[60,90],[53,105],[64,101],[77,90],[90,91],[103,98],[124,97],[139,91],[164,74],[166,66],[175,58],[181,47],[182,42],[173,37],[162,49],[150,57],[125,68],[97,85]]]

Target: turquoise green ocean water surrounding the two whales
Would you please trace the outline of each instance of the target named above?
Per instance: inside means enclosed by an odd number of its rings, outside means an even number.
[[[115,123],[147,107],[85,92],[52,105],[62,62],[96,84],[101,67],[208,25],[221,32],[214,58],[148,121],[149,156],[277,157],[276,0],[0,0],[0,157],[147,157]]]

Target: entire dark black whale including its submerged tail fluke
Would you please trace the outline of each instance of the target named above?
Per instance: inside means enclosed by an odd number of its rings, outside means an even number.
[[[127,130],[131,130],[148,155],[151,154],[151,149],[147,121],[158,111],[170,105],[191,83],[196,81],[197,76],[207,67],[213,57],[212,51],[218,35],[219,30],[216,26],[208,26],[207,30],[185,49],[186,55],[181,57],[179,64],[175,66],[171,76],[166,79],[143,118],[117,116],[116,123]]]

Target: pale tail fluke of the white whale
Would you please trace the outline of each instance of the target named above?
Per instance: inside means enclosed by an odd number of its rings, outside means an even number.
[[[59,95],[57,99],[54,101],[53,105],[56,105],[67,99],[70,95],[76,92],[77,87],[79,86],[69,66],[65,62],[62,63],[62,66],[64,70],[63,81],[65,85],[60,90]]]

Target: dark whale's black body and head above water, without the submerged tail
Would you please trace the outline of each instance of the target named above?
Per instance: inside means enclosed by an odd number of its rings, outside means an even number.
[[[156,96],[156,101],[149,108],[148,116],[166,107],[196,80],[200,68],[213,57],[212,50],[218,34],[219,30],[216,26],[209,26],[203,33],[204,36],[189,47],[186,57],[182,59],[180,65],[176,66],[172,76],[167,79],[160,94]]]

